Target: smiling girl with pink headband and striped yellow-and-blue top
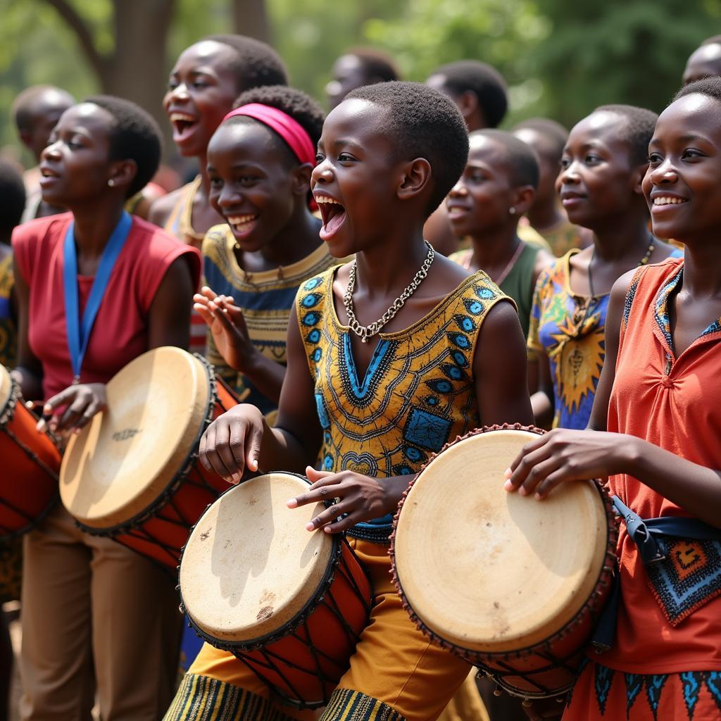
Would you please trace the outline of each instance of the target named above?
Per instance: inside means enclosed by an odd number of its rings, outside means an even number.
[[[283,86],[245,92],[235,105],[208,143],[209,198],[226,222],[205,236],[207,286],[195,309],[209,327],[208,360],[269,414],[286,372],[298,287],[337,262],[320,240],[310,194],[324,114]]]

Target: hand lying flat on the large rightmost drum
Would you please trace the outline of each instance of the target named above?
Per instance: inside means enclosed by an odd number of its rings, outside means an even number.
[[[631,440],[620,433],[556,428],[523,446],[505,472],[504,488],[541,500],[566,481],[605,479],[622,472]]]

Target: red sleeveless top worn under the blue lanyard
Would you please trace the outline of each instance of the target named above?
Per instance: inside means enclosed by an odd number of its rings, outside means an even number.
[[[71,213],[39,218],[18,226],[12,235],[15,267],[30,289],[28,341],[43,366],[45,399],[73,382],[63,292],[63,242],[71,220]],[[133,216],[92,328],[81,370],[83,383],[107,383],[148,350],[150,306],[168,267],[181,256],[197,288],[200,252]],[[81,314],[93,280],[78,276]]]

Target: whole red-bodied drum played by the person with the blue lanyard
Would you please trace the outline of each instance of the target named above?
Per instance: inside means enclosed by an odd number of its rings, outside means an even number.
[[[118,372],[107,403],[68,443],[61,500],[84,531],[177,567],[193,523],[228,487],[197,452],[235,394],[200,356],[164,347]]]

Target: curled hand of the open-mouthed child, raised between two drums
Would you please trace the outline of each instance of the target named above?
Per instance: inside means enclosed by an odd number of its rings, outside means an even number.
[[[246,469],[252,472],[258,469],[264,432],[260,410],[248,403],[236,405],[216,418],[203,433],[198,448],[200,463],[229,483],[239,483]]]

